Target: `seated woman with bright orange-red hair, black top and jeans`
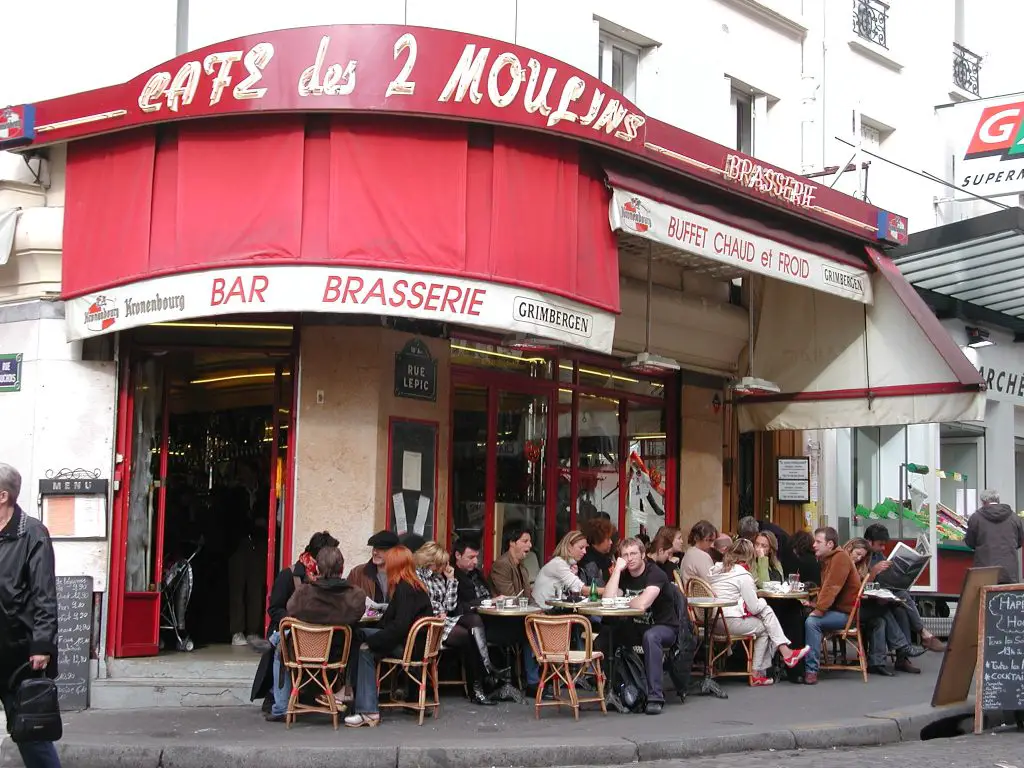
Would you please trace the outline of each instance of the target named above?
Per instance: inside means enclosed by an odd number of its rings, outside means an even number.
[[[362,642],[354,665],[349,665],[355,689],[354,714],[345,718],[349,728],[380,725],[377,706],[377,658],[401,656],[406,638],[417,620],[433,615],[427,587],[416,575],[413,553],[406,547],[392,547],[384,553],[387,572],[387,610],[375,628],[361,630]],[[422,649],[420,651],[422,653]]]

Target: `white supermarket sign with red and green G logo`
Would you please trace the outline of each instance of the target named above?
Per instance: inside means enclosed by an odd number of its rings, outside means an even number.
[[[957,198],[1024,193],[1024,94],[964,101],[938,113]]]

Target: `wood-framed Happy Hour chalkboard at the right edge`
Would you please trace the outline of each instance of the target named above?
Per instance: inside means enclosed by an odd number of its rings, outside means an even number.
[[[1024,710],[1024,585],[983,588],[978,624],[978,711]]]

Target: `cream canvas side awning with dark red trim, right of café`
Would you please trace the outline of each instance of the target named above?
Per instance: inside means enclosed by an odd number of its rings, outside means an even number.
[[[761,282],[758,375],[782,391],[740,398],[741,431],[984,418],[981,375],[895,264],[867,254],[870,305]]]

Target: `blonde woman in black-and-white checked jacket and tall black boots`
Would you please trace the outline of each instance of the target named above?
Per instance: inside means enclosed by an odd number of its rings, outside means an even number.
[[[459,580],[449,553],[437,542],[427,542],[417,550],[413,559],[416,574],[427,586],[434,615],[444,618],[441,643],[445,648],[457,649],[462,655],[463,667],[469,677],[469,700],[481,707],[497,705],[483,692],[484,675],[494,677],[495,674],[487,655],[483,622],[476,613],[461,612]]]

